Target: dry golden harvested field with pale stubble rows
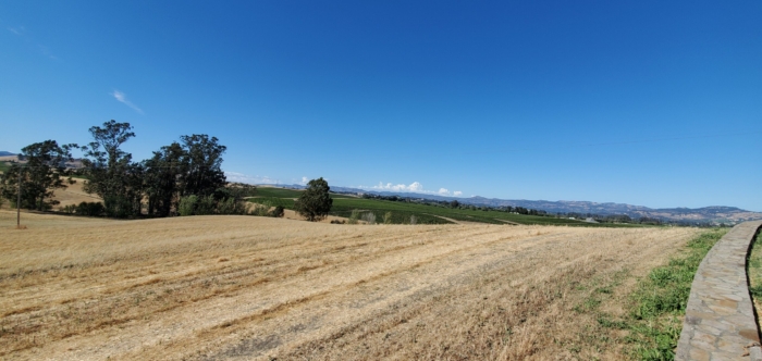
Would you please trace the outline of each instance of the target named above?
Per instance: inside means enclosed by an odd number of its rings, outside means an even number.
[[[2,359],[612,359],[578,290],[697,233],[22,217],[0,211]]]

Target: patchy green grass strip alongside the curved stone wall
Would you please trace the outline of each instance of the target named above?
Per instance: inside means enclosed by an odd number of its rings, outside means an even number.
[[[587,297],[574,311],[595,318],[597,324],[569,347],[619,348],[623,356],[635,360],[673,360],[693,275],[727,231],[699,234],[678,256],[639,279],[623,270],[587,285]]]

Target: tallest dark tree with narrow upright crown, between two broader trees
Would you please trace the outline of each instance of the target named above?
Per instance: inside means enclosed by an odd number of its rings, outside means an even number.
[[[83,165],[89,177],[84,189],[103,199],[108,216],[125,217],[140,213],[143,166],[132,162],[132,154],[120,147],[135,136],[130,123],[110,121],[90,127],[93,141],[83,147]],[[139,182],[138,182],[139,180]]]

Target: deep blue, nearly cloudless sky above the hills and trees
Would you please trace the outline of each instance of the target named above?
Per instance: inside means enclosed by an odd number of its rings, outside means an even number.
[[[762,211],[760,1],[2,1],[0,150],[128,122],[230,179]]]

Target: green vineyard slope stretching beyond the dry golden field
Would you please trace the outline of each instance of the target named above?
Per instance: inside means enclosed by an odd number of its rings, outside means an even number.
[[[262,187],[257,189],[257,197],[249,201],[267,203],[271,207],[281,206],[285,209],[294,209],[294,199],[302,195],[300,190]],[[487,224],[518,223],[526,225],[568,225],[586,227],[641,227],[639,224],[612,224],[588,223],[577,220],[558,219],[553,216],[523,215],[499,211],[466,210],[437,207],[429,204],[395,202],[389,200],[364,199],[345,195],[331,195],[333,207],[330,214],[349,217],[354,210],[372,212],[377,222],[383,222],[388,212],[392,214],[393,224],[409,224],[415,216],[418,224],[447,224],[452,223],[443,217],[462,222],[476,222]]]

